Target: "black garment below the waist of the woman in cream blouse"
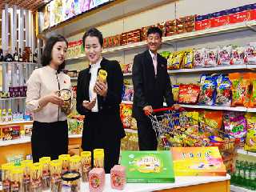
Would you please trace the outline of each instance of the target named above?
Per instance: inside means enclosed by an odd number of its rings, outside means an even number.
[[[68,153],[67,122],[34,122],[31,137],[33,162],[39,158],[58,159],[58,155]]]

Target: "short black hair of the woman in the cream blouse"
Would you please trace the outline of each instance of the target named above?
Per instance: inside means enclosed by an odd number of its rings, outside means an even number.
[[[64,38],[60,34],[57,34],[57,35],[54,35],[54,36],[51,36],[50,38],[48,38],[46,40],[46,46],[45,46],[44,50],[42,51],[42,58],[41,58],[42,66],[50,65],[50,61],[52,60],[51,53],[52,53],[53,47],[56,42],[66,42],[66,46],[68,46],[68,42],[66,41],[66,38]],[[58,73],[61,70],[64,70],[65,65],[66,64],[64,61],[64,62],[62,62],[62,65],[58,66],[58,70],[57,70]]]

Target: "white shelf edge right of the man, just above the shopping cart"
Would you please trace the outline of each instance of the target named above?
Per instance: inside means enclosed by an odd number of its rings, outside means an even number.
[[[198,105],[186,105],[186,104],[180,104],[180,106],[184,108],[193,108],[193,109],[206,109],[206,110],[232,110],[232,111],[247,111],[246,107],[243,106],[237,106],[237,107],[231,107],[231,106],[198,106]]]

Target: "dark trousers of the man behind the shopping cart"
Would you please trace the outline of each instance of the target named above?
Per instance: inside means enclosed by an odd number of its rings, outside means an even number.
[[[158,140],[153,130],[150,118],[144,117],[136,119],[138,128],[139,150],[157,150]]]

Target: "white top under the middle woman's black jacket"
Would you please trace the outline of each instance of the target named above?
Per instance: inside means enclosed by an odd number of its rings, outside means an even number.
[[[90,85],[89,85],[89,97],[90,101],[96,98],[95,106],[91,109],[92,112],[98,112],[98,99],[97,94],[94,91],[94,86],[98,76],[98,69],[101,67],[102,58],[95,64],[90,64]]]

